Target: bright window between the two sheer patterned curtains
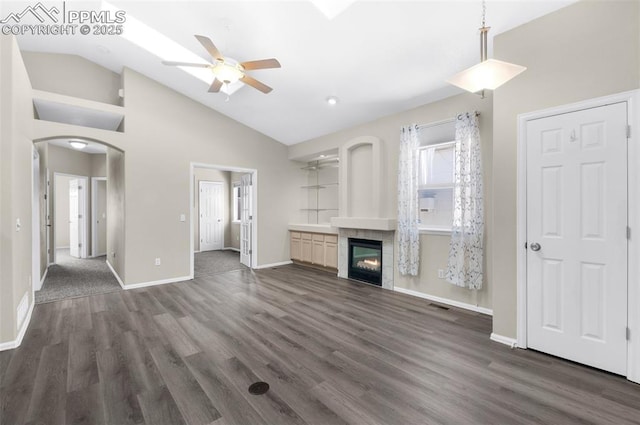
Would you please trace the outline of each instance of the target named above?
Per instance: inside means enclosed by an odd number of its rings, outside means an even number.
[[[455,123],[427,125],[420,129],[418,152],[418,201],[420,229],[451,231]]]

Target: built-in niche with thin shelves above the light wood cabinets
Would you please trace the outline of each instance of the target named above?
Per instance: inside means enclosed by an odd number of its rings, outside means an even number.
[[[338,169],[337,155],[325,156],[310,161],[302,170],[307,172],[307,184],[300,187],[301,208],[309,224],[329,224],[331,217],[338,215]]]

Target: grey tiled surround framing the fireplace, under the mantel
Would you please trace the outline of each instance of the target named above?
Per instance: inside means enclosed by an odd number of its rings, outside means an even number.
[[[349,238],[382,241],[382,287],[393,289],[394,235],[394,231],[341,228],[338,233],[338,276],[349,277]]]

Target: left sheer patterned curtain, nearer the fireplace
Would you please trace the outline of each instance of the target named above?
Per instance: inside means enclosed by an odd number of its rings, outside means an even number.
[[[418,128],[400,131],[398,163],[398,269],[402,275],[417,276],[420,266],[418,232]]]

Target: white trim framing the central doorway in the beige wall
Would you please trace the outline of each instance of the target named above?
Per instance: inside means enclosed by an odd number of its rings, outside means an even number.
[[[193,237],[193,233],[195,231],[195,225],[193,220],[193,213],[195,211],[195,169],[196,168],[206,168],[210,170],[219,170],[219,171],[230,171],[236,173],[245,173],[251,174],[252,178],[252,191],[251,196],[253,197],[253,205],[252,205],[252,216],[251,220],[251,268],[258,268],[258,170],[253,168],[240,168],[240,167],[229,167],[226,165],[216,165],[216,164],[205,164],[201,162],[191,162],[189,164],[189,261],[190,261],[190,270],[191,270],[191,279],[193,279],[195,273],[195,240]]]

